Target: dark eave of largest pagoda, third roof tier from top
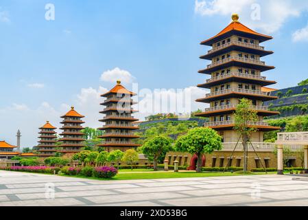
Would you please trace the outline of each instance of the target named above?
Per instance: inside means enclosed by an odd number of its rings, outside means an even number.
[[[226,63],[222,63],[220,65],[215,65],[214,67],[208,67],[206,69],[200,69],[198,71],[198,73],[200,74],[211,74],[217,70],[220,69],[225,69],[228,67],[243,67],[243,68],[250,68],[250,69],[258,69],[260,72],[265,72],[268,71],[270,69],[275,69],[274,66],[268,66],[268,65],[259,65],[256,63],[246,63],[246,62],[242,62],[242,61],[237,61],[237,60],[230,60]]]

